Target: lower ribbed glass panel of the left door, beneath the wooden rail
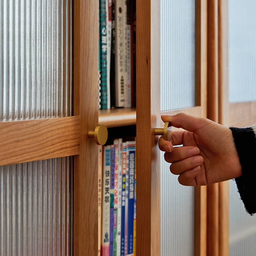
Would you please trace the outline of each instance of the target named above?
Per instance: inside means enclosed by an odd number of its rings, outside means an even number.
[[[0,255],[72,255],[72,157],[0,167]]]

